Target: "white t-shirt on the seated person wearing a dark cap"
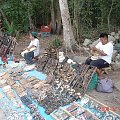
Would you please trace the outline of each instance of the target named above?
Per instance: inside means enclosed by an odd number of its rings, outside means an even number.
[[[38,56],[40,53],[40,43],[39,40],[37,38],[35,38],[34,40],[31,40],[29,47],[31,47],[32,45],[34,45],[36,47],[36,49],[34,50],[34,57]]]

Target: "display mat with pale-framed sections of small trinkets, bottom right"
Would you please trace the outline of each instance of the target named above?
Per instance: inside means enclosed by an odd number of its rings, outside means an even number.
[[[80,101],[55,110],[51,116],[55,120],[120,120],[120,116],[108,108],[94,98],[85,95]]]

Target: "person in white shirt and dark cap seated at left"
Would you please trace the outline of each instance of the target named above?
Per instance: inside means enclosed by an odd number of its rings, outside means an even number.
[[[26,64],[33,64],[33,58],[39,55],[39,40],[37,39],[37,33],[32,32],[30,34],[30,44],[25,50],[21,53],[21,55],[26,60]]]

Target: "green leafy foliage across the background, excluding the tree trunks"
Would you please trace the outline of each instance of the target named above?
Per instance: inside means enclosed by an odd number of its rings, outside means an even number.
[[[109,19],[110,29],[112,31],[112,28],[120,26],[120,14],[118,12],[120,11],[120,0],[76,1],[78,2],[76,6],[75,0],[68,0],[68,5],[72,25],[77,18],[78,25],[76,26],[80,29],[79,34],[81,36],[85,36],[85,34],[91,36],[93,28],[98,31],[108,31],[108,15],[112,1],[113,8]],[[31,25],[39,30],[41,25],[48,25],[51,22],[51,0],[1,0],[0,9],[10,23],[8,25],[2,16],[5,31],[11,35],[28,32]],[[76,9],[78,11],[77,17],[75,17]],[[55,11],[57,10],[55,9]]]

